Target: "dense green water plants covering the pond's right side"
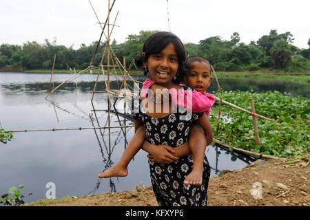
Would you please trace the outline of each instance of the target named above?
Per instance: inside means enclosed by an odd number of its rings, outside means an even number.
[[[256,153],[274,155],[276,157],[296,157],[310,151],[310,100],[302,96],[292,97],[278,91],[257,94],[250,91],[223,91],[216,94],[223,100],[251,111],[249,98],[254,98],[256,112],[273,122],[257,118],[260,145],[256,144],[252,115],[221,104],[223,115],[231,119],[227,122],[220,118],[218,124],[218,102],[212,108],[214,117],[210,121],[214,130],[214,138],[238,148]]]

